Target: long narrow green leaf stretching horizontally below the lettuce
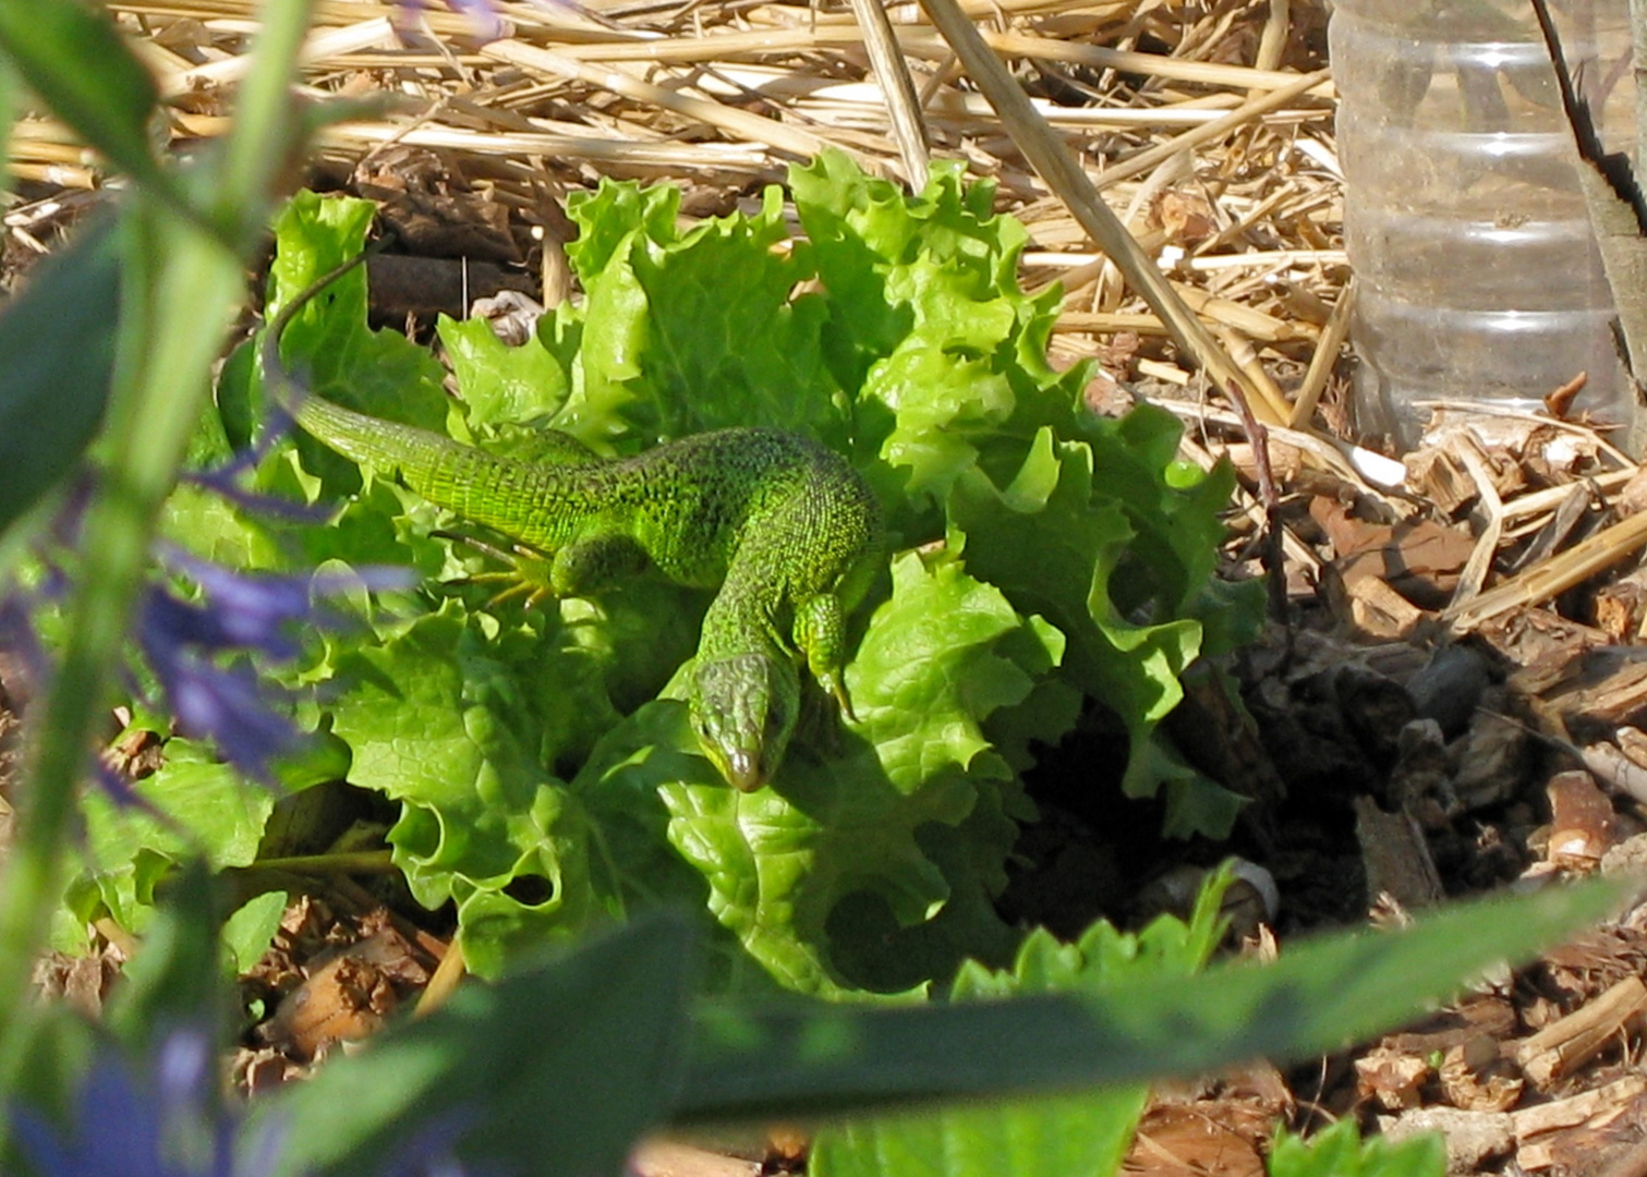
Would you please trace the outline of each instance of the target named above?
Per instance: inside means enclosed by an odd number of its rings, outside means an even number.
[[[947,1007],[705,1007],[677,1121],[820,1116],[1194,1075],[1308,1057],[1523,960],[1617,900],[1612,886],[1461,904],[1408,932],[1344,933],[1268,966],[1237,961],[1176,984],[1122,984]]]

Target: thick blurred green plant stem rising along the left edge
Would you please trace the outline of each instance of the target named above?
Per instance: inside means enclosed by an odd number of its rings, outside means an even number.
[[[293,148],[290,82],[311,3],[268,5],[219,168],[204,168],[216,224],[245,250],[267,217],[268,189]],[[171,492],[209,387],[234,306],[242,258],[209,227],[138,191],[122,232],[119,357],[104,431],[104,472],[87,507],[82,575],[69,604],[69,639],[38,716],[16,835],[0,874],[0,1091],[28,1044],[35,953],[58,905],[74,790],[86,774],[114,690],[143,583],[160,505]],[[0,1121],[3,1133],[3,1121]]]

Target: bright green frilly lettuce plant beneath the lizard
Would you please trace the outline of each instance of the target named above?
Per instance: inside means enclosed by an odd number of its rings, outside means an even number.
[[[685,230],[669,186],[575,196],[583,301],[524,347],[441,321],[458,398],[427,351],[367,328],[361,273],[283,341],[321,395],[511,453],[545,426],[621,454],[776,425],[850,454],[894,533],[856,619],[858,723],[810,708],[771,789],[725,789],[687,729],[679,672],[703,594],[637,583],[497,604],[474,581],[496,565],[432,535],[451,520],[306,438],[249,489],[336,504],[329,527],[194,487],[170,504],[168,530],[203,558],[272,575],[402,563],[433,581],[328,635],[298,678],[321,686],[308,721],[348,747],[348,779],[402,805],[395,861],[422,902],[456,904],[481,971],[659,900],[730,933],[723,981],[753,960],[799,991],[893,991],[1001,960],[1015,933],[990,900],[1033,816],[1023,772],[1084,698],[1131,734],[1128,792],[1166,789],[1174,833],[1227,831],[1232,798],[1155,724],[1184,667],[1257,617],[1253,593],[1214,578],[1229,474],[1178,463],[1163,412],[1084,410],[1089,367],[1047,364],[1057,295],[1018,290],[1024,230],[991,214],[987,184],[939,168],[907,198],[824,156],[791,191],[799,239],[777,189]],[[272,306],[357,252],[371,212],[298,196]],[[198,451],[226,458],[262,416],[249,349],[217,403]]]

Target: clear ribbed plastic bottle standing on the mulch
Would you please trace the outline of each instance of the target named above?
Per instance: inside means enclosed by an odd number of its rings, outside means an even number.
[[[1627,0],[1550,0],[1611,150],[1634,130]],[[1421,402],[1573,408],[1634,421],[1612,295],[1530,0],[1337,0],[1344,244],[1357,278],[1357,425],[1402,446]]]

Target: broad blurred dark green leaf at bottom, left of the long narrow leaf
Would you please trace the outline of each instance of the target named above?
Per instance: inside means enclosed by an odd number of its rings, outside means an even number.
[[[614,1174],[674,1101],[684,1058],[692,938],[639,920],[336,1058],[287,1098],[277,1174],[379,1172],[441,1134],[469,1172]],[[427,1144],[427,1141],[420,1141]]]

